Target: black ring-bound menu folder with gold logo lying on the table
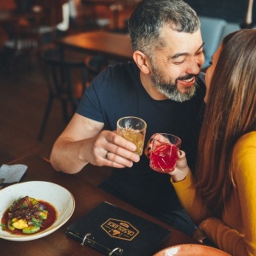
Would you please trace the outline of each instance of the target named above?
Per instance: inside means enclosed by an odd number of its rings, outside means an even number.
[[[71,224],[66,234],[106,255],[148,256],[171,231],[105,201]]]

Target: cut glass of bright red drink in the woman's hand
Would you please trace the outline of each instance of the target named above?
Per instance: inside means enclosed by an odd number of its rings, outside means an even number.
[[[176,166],[180,146],[179,137],[168,133],[156,134],[152,142],[149,166],[156,172],[172,172]]]

